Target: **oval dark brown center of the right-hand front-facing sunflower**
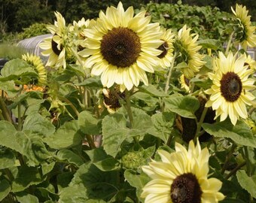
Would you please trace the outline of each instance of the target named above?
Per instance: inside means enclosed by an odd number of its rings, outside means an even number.
[[[227,102],[235,102],[242,92],[242,81],[234,72],[227,72],[221,78],[221,95]]]

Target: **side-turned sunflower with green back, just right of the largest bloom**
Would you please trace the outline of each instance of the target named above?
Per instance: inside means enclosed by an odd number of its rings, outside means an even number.
[[[181,68],[181,71],[188,79],[194,77],[194,74],[200,71],[200,68],[206,63],[203,61],[203,55],[198,53],[201,49],[201,46],[197,45],[199,35],[190,35],[190,31],[191,29],[187,29],[187,25],[184,25],[178,31],[178,36],[175,40],[175,48],[179,52],[178,56],[180,56],[178,57],[178,62],[187,63],[187,67]]]

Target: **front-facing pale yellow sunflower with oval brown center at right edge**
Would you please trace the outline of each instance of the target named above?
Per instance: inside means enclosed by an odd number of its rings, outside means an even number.
[[[231,123],[236,125],[239,117],[247,118],[245,105],[251,105],[254,95],[249,92],[254,89],[254,80],[248,78],[254,70],[245,65],[246,57],[241,55],[237,58],[237,53],[219,53],[219,58],[214,59],[214,73],[209,73],[212,80],[212,87],[206,90],[206,94],[211,95],[206,107],[215,110],[215,119],[221,117],[221,121],[227,116]]]

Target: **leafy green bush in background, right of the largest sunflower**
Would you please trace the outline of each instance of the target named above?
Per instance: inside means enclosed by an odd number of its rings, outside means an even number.
[[[152,22],[158,22],[173,31],[178,31],[186,24],[201,39],[218,39],[223,43],[229,37],[225,29],[231,22],[231,15],[219,8],[150,3],[144,9],[151,14]]]

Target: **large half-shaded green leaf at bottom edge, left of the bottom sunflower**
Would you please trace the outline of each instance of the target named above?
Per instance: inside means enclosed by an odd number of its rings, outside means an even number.
[[[118,192],[118,176],[118,171],[100,171],[87,162],[78,168],[69,186],[59,193],[59,202],[110,202]]]

